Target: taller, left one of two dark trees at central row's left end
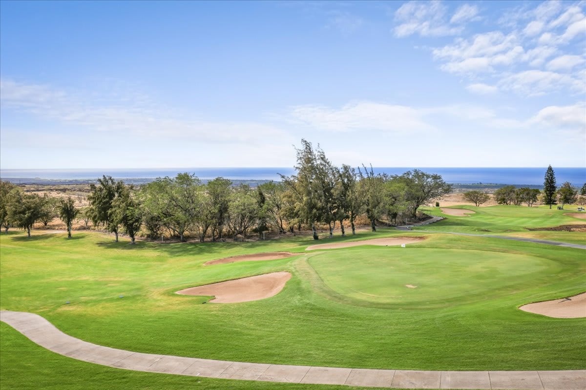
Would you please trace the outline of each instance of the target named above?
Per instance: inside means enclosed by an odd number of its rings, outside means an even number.
[[[117,196],[124,191],[122,181],[114,181],[111,176],[104,175],[98,179],[98,185],[90,184],[90,195],[87,200],[90,202],[91,220],[94,225],[103,225],[108,232],[114,233],[115,241],[118,242],[118,220],[113,217],[113,203]]]

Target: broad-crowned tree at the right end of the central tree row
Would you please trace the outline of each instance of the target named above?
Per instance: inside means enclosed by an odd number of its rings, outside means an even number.
[[[415,169],[401,176],[408,182],[407,198],[413,203],[412,218],[417,215],[419,206],[430,202],[431,199],[441,199],[452,192],[452,185],[445,182],[438,174],[429,174]]]

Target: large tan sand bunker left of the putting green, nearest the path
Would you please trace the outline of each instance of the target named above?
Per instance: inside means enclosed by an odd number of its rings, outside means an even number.
[[[177,291],[176,294],[215,296],[216,298],[210,300],[214,303],[258,301],[277,295],[289,279],[291,279],[289,272],[272,272],[250,278],[190,287]]]

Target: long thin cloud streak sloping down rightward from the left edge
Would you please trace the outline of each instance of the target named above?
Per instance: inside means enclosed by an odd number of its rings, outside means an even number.
[[[195,137],[210,143],[262,144],[289,138],[283,130],[264,123],[184,119],[171,111],[142,103],[124,103],[128,101],[124,97],[104,105],[96,102],[94,96],[71,94],[48,85],[13,80],[0,80],[0,101],[4,109],[80,126],[88,132],[178,139]]]

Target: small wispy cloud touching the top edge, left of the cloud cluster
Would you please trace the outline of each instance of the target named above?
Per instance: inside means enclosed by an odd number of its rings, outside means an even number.
[[[420,36],[449,36],[462,32],[462,26],[450,26],[445,20],[446,7],[441,1],[409,1],[395,12],[399,24],[394,27],[397,37],[413,34]]]

